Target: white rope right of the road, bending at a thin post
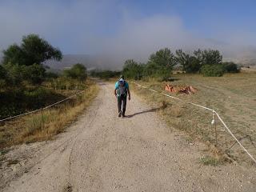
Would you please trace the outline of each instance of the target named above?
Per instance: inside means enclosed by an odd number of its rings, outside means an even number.
[[[137,86],[142,86],[142,85],[139,85],[139,84],[136,83],[136,82],[132,82],[132,83],[134,83],[134,84],[137,85]],[[142,86],[142,87],[143,87],[143,88],[144,88],[144,87],[146,88],[146,86]],[[169,94],[159,93],[157,90],[152,90],[152,89],[149,89],[149,90],[151,90],[151,91],[153,91],[153,92],[156,92],[156,93],[158,93],[158,94],[165,95],[166,97],[174,98],[174,99],[177,99],[177,100],[179,100],[179,101],[184,102],[182,99],[180,99],[180,98],[175,98],[174,96],[171,96],[171,95],[169,95]],[[236,138],[236,137],[234,136],[234,134],[231,132],[231,130],[228,128],[228,126],[226,126],[226,123],[222,120],[222,118],[219,116],[219,114],[218,114],[215,110],[210,109],[210,108],[208,108],[208,107],[206,107],[206,106],[200,106],[200,105],[195,104],[195,103],[193,103],[193,102],[186,102],[186,103],[188,103],[188,104],[190,104],[190,105],[193,105],[193,106],[198,106],[198,107],[200,107],[200,108],[202,108],[202,109],[205,109],[205,110],[210,110],[210,111],[212,111],[214,114],[216,114],[217,117],[218,117],[218,119],[222,122],[222,125],[226,128],[226,130],[230,133],[230,135],[234,138],[234,140],[235,140],[236,142],[238,142],[238,144],[239,144],[239,146],[241,146],[242,150],[244,150],[244,151],[246,152],[246,154],[248,154],[249,157],[256,163],[256,159],[254,158],[254,156],[253,156],[252,154],[250,154],[249,151],[246,150],[246,148],[245,148],[244,146],[242,146],[242,143],[239,142],[238,138]],[[213,115],[214,115],[214,114],[213,114]],[[214,116],[213,116],[213,119],[214,119]],[[214,120],[212,121],[212,124],[213,124],[213,123],[214,123]]]

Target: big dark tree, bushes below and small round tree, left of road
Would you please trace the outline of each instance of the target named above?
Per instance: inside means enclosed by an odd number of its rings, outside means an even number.
[[[60,61],[62,52],[51,46],[38,34],[29,34],[22,38],[21,45],[13,44],[3,50],[3,59],[0,65],[0,88],[21,87],[24,84],[41,85],[49,78],[77,79],[84,81],[87,78],[86,67],[75,64],[70,69],[62,71],[62,74],[50,72],[50,67],[44,62],[49,59]],[[48,71],[47,71],[48,70]]]

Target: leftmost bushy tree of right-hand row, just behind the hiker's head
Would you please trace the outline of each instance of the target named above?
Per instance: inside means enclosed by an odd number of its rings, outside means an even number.
[[[122,73],[126,78],[134,78],[136,80],[142,78],[143,66],[142,64],[138,64],[134,62],[133,59],[126,60]]]

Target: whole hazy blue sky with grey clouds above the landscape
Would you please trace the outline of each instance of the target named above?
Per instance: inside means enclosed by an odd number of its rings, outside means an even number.
[[[0,0],[0,50],[39,34],[64,54],[145,59],[162,47],[256,46],[254,0]]]

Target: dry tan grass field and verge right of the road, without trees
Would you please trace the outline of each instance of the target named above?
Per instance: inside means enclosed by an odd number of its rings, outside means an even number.
[[[165,92],[166,83],[190,85],[197,88],[198,92],[193,95],[172,94],[185,101],[178,102],[141,87],[134,86],[132,89],[154,107],[160,107],[158,112],[162,114],[170,127],[182,130],[190,138],[206,142],[209,146],[216,144],[215,127],[210,124],[213,118],[211,112],[191,106],[186,102],[195,102],[216,110],[230,130],[246,146],[246,149],[256,156],[256,102],[254,98],[256,73],[226,74],[221,78],[206,78],[197,74],[174,74],[174,79],[176,79],[174,82],[158,82],[150,79],[138,83],[160,92]],[[226,156],[228,161],[233,159],[237,162],[250,162],[250,158],[237,144],[234,144],[234,139],[226,132],[222,124],[218,120],[216,122],[218,154]]]

